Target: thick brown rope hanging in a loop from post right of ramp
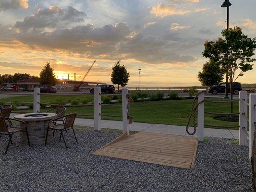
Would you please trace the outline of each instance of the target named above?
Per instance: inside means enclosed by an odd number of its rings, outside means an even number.
[[[204,100],[202,100],[202,101],[200,101],[200,102],[198,102],[198,103],[195,103],[195,101],[197,100],[197,98],[198,98],[198,96],[199,96],[200,94],[205,93],[205,92],[206,92],[205,90],[199,92],[199,93],[195,96],[195,98],[194,98],[194,100],[193,100],[192,108],[191,108],[191,111],[190,111],[190,114],[189,114],[189,118],[188,118],[188,122],[187,122],[187,125],[186,125],[186,132],[187,132],[189,135],[194,135],[195,132],[196,132],[197,123],[195,122],[195,113],[196,113],[197,107],[198,107],[201,103],[205,102],[207,99],[204,99]],[[189,124],[190,124],[191,119],[192,119],[192,121],[193,121],[193,126],[194,126],[194,132],[192,132],[192,133],[190,133],[190,132],[188,131],[188,126],[189,126]]]

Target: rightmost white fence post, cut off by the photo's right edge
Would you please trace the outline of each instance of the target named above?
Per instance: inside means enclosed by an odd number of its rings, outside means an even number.
[[[252,146],[256,123],[256,94],[249,95],[249,158],[252,156]]]

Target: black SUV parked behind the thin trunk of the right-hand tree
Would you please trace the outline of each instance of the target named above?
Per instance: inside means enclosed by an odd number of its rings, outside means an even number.
[[[229,93],[230,93],[230,84],[228,84],[228,87],[229,87]],[[226,89],[226,83],[221,83],[217,86],[211,86],[209,88],[208,92],[216,95],[218,93],[225,93],[225,89]],[[239,91],[242,91],[241,83],[234,82],[233,83],[233,94],[238,95]]]

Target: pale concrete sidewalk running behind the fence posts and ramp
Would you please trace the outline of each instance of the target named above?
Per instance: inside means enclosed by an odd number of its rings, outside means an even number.
[[[91,119],[81,119],[76,118],[75,125],[86,126],[86,127],[94,127],[94,120]],[[122,121],[117,120],[101,120],[102,128],[110,128],[110,129],[121,129],[122,130]],[[138,131],[138,132],[155,132],[155,133],[163,133],[163,134],[174,134],[174,135],[186,135],[186,127],[185,126],[177,126],[177,125],[163,125],[163,124],[151,124],[151,123],[138,123],[134,122],[129,124],[130,131]],[[193,132],[194,129],[190,128],[190,132]],[[197,133],[195,133],[194,136]],[[204,128],[204,137],[219,137],[219,138],[230,138],[230,139],[239,139],[239,131],[238,130],[228,130],[228,129],[210,129]]]

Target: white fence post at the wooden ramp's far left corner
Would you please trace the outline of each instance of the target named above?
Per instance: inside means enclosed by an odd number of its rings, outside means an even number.
[[[122,88],[122,133],[128,133],[128,99],[127,99],[128,89]]]

